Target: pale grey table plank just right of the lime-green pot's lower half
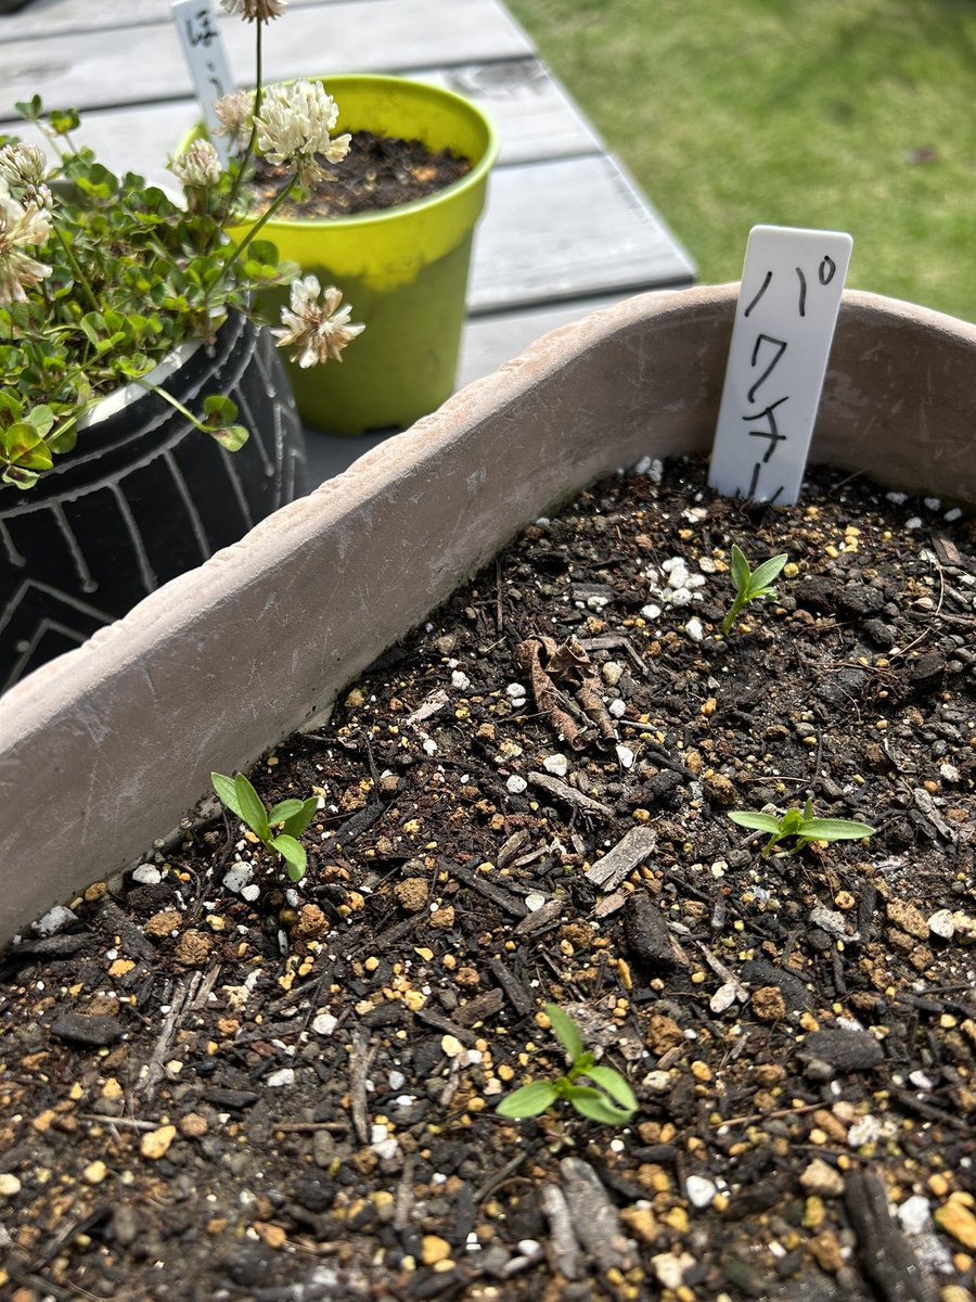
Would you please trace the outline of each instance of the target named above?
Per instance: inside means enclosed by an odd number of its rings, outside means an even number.
[[[468,311],[690,285],[695,267],[610,156],[498,168]]]

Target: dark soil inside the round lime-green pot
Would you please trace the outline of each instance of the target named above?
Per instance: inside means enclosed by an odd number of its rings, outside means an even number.
[[[341,163],[331,164],[329,180],[307,198],[289,201],[278,210],[285,220],[297,217],[350,217],[379,212],[436,194],[471,171],[467,159],[452,150],[428,150],[420,141],[355,132]],[[271,203],[290,173],[258,160],[254,189],[263,206]]]

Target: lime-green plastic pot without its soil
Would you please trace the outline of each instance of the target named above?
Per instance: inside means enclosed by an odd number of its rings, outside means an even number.
[[[426,199],[353,217],[272,219],[262,232],[303,275],[337,285],[366,326],[341,363],[288,363],[305,423],[342,435],[406,428],[454,388],[471,238],[497,135],[479,108],[437,86],[370,74],[321,81],[338,104],[336,133],[419,139],[471,160],[466,176]],[[275,297],[275,316],[284,301]]]

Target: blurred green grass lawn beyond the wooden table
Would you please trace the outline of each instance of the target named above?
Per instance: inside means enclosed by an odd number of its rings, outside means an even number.
[[[976,320],[973,0],[508,0],[699,267],[848,230],[847,284]]]

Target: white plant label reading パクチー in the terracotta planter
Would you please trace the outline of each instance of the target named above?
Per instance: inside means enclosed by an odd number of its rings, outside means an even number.
[[[842,230],[750,232],[708,474],[717,492],[798,500],[852,243]]]

